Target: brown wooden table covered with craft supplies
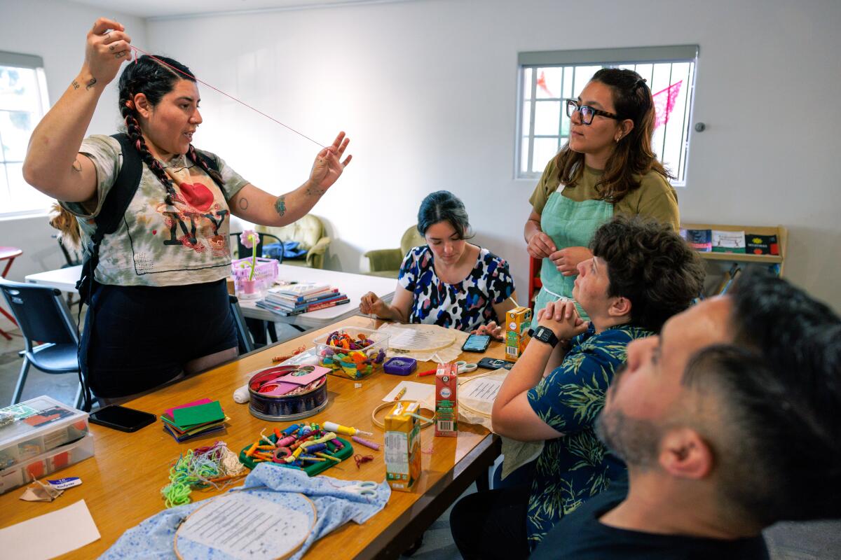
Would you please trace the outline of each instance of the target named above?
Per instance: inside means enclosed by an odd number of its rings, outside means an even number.
[[[379,323],[376,326],[379,326]],[[372,327],[368,317],[352,317],[342,326]],[[292,422],[267,422],[258,420],[248,411],[247,405],[238,405],[233,392],[244,385],[249,374],[272,364],[274,355],[289,353],[301,344],[313,346],[312,339],[325,332],[336,330],[338,325],[308,332],[299,338],[272,348],[256,351],[234,362],[224,364],[204,374],[183,379],[156,392],[142,396],[127,406],[156,415],[171,406],[209,397],[220,400],[225,413],[230,416],[226,432],[177,443],[165,434],[161,421],[135,433],[124,433],[91,424],[95,439],[95,454],[81,463],[71,465],[50,478],[78,476],[82,485],[66,490],[51,503],[19,500],[24,489],[14,489],[0,496],[0,527],[24,521],[34,516],[57,510],[84,499],[91,511],[102,538],[86,547],[67,554],[68,558],[91,558],[102,554],[123,534],[145,518],[164,509],[161,488],[168,483],[168,470],[172,461],[188,449],[211,445],[217,439],[228,443],[235,452],[253,442],[265,427],[287,427]],[[485,354],[501,358],[505,348],[502,343],[491,343]],[[480,358],[468,355],[470,361]],[[418,371],[430,369],[431,363],[418,364]],[[479,370],[481,371],[481,370]],[[434,383],[434,376],[418,378],[383,373],[372,374],[360,381],[361,389],[354,388],[352,379],[330,375],[327,380],[330,404],[325,411],[309,417],[308,421],[322,423],[336,421],[346,426],[373,432],[370,438],[383,442],[383,431],[371,422],[371,411],[382,402],[390,390],[401,380]],[[384,414],[384,411],[380,413]],[[382,419],[383,416],[378,416]],[[459,423],[458,437],[434,437],[434,427],[421,431],[423,474],[415,491],[392,492],[389,503],[364,525],[350,522],[325,536],[309,549],[305,558],[394,558],[415,542],[418,536],[452,504],[475,480],[483,469],[493,463],[499,453],[495,437],[484,427]],[[383,451],[373,451],[356,446],[355,453],[371,454],[374,460],[357,468],[352,458],[326,471],[337,479],[382,481],[385,478]],[[193,492],[193,500],[204,500],[219,491]]]

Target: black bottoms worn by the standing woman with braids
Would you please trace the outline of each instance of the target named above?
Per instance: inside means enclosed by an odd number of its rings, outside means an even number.
[[[98,397],[134,395],[189,361],[236,348],[225,280],[167,287],[95,285],[80,359]]]

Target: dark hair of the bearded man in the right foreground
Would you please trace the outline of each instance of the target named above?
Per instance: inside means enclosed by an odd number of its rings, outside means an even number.
[[[717,450],[725,495],[763,525],[841,516],[841,319],[748,271],[731,326],[735,348],[702,350],[684,378],[711,379],[731,422],[732,445]]]

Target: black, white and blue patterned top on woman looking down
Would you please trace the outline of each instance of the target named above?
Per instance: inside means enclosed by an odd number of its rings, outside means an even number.
[[[470,332],[486,322],[500,321],[494,304],[514,293],[514,279],[504,259],[479,248],[473,270],[457,284],[438,278],[432,260],[432,250],[423,245],[411,249],[400,265],[397,282],[414,294],[409,322]]]

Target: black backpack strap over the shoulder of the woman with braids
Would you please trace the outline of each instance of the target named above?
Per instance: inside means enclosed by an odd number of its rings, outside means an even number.
[[[123,220],[125,211],[128,210],[131,199],[135,197],[137,186],[140,185],[140,176],[143,174],[143,161],[134,146],[131,145],[129,136],[125,133],[113,134],[111,138],[119,142],[123,153],[123,165],[119,168],[114,185],[105,195],[103,206],[97,217],[93,219],[96,230],[91,236],[85,249],[85,259],[82,263],[82,277],[76,283],[76,289],[82,301],[90,305],[90,296],[93,291],[93,271],[97,270],[99,264],[99,245],[108,233],[114,233],[119,228],[119,222]]]

